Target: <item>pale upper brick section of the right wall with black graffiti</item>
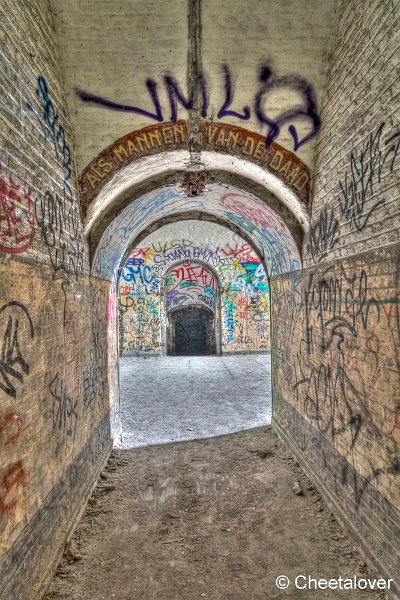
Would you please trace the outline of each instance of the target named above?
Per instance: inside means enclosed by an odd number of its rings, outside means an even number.
[[[341,2],[322,104],[308,264],[400,232],[399,5]]]

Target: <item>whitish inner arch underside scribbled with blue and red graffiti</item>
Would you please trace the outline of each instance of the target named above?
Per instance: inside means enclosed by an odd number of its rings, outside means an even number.
[[[97,246],[92,275],[116,281],[121,262],[143,232],[155,223],[190,218],[194,213],[238,231],[263,259],[270,276],[294,271],[301,265],[288,227],[256,196],[235,186],[211,183],[202,194],[191,197],[181,186],[171,184],[140,196],[116,216]]]

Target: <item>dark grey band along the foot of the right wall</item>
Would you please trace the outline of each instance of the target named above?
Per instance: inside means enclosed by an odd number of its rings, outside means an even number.
[[[273,421],[274,429],[297,455],[301,466],[322,492],[342,526],[375,565],[377,573],[387,579],[395,578],[392,589],[398,593],[400,512],[279,394],[274,395],[274,402],[278,407],[277,414],[279,412]],[[362,491],[362,507],[355,490]]]

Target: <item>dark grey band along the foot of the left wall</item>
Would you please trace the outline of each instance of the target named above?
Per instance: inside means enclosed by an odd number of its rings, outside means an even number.
[[[110,415],[43,499],[1,564],[0,598],[40,598],[111,451]]]

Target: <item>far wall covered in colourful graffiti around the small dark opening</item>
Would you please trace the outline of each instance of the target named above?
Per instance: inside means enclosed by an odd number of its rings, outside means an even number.
[[[180,221],[145,238],[122,270],[119,303],[122,352],[160,352],[165,311],[187,303],[221,311],[222,352],[269,350],[262,263],[240,236],[215,223]]]

